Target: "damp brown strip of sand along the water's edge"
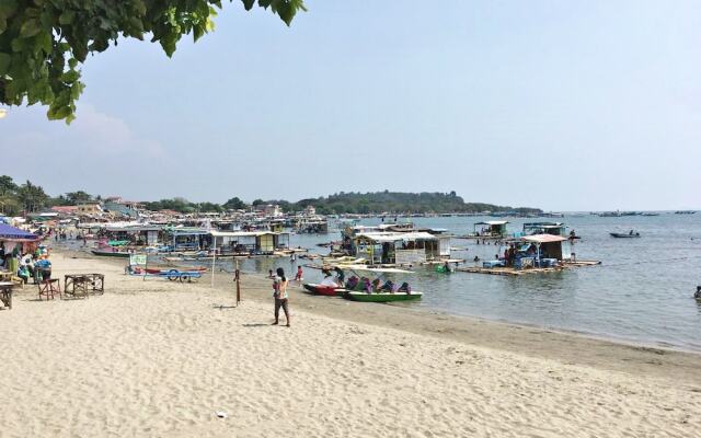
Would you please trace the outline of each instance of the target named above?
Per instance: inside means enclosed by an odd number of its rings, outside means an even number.
[[[71,256],[96,260],[117,266],[125,265],[124,260],[97,257],[81,252],[59,251],[58,253],[65,255],[71,253]],[[210,275],[210,272],[204,275],[198,285],[211,288]],[[230,290],[233,293],[231,277],[230,273],[215,273],[214,289]],[[269,280],[263,274],[242,272],[242,304],[246,300],[252,300],[257,303],[271,303],[272,307],[268,289]],[[291,283],[290,292],[292,311],[300,309],[346,322],[400,330],[443,341],[559,360],[563,364],[662,378],[674,373],[676,379],[701,384],[701,351],[480,316],[457,315],[411,306],[361,303],[342,298],[318,297],[307,293],[301,287]]]

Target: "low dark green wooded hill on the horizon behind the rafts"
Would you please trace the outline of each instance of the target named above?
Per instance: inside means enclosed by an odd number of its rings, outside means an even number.
[[[480,211],[517,211],[522,214],[542,212],[538,208],[497,206],[484,203],[466,203],[455,192],[450,193],[337,193],[327,197],[302,199],[294,204],[283,204],[287,210],[300,210],[314,206],[320,214],[444,214]]]

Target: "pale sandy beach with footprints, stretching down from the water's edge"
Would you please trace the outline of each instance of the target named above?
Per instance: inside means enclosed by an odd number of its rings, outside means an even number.
[[[0,437],[691,437],[701,356],[291,293],[100,272],[104,296],[0,311]],[[62,281],[61,281],[62,283]],[[222,308],[223,306],[223,308]],[[216,413],[226,413],[219,418]]]

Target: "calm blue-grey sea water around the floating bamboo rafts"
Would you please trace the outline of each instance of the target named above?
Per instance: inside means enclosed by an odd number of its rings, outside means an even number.
[[[463,234],[473,230],[474,222],[489,219],[413,221]],[[565,222],[582,237],[575,246],[577,258],[598,260],[602,264],[513,278],[438,274],[428,267],[418,268],[416,274],[393,278],[409,280],[413,289],[424,292],[423,301],[403,306],[701,350],[701,304],[693,298],[697,285],[701,285],[701,214],[621,218],[586,215],[554,220]],[[524,221],[533,219],[509,221],[509,231],[521,231]],[[630,229],[639,231],[641,239],[609,237],[609,232]],[[337,233],[292,235],[290,243],[314,247],[319,242],[337,239]],[[453,256],[469,261],[475,255],[491,258],[497,252],[497,246],[476,245],[467,240],[455,240],[452,246],[467,250],[456,251]],[[296,264],[287,260],[246,261],[242,267],[267,272],[276,266],[287,272],[296,269]],[[318,270],[306,269],[307,280],[318,280],[319,276]]]

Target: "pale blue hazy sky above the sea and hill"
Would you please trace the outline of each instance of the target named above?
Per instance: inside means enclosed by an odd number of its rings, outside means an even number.
[[[0,174],[134,200],[450,192],[701,209],[701,2],[307,0],[290,27],[89,57],[78,119],[0,119]],[[12,157],[12,159],[8,159]]]

